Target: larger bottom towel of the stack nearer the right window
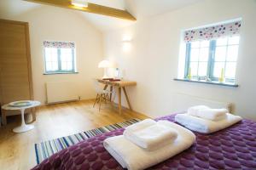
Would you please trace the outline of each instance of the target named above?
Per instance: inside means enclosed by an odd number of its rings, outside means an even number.
[[[188,114],[177,114],[175,116],[175,122],[199,133],[214,133],[226,127],[230,127],[240,121],[241,116],[234,116],[230,113],[226,113],[226,117],[220,121],[210,121],[201,117],[190,116]]]

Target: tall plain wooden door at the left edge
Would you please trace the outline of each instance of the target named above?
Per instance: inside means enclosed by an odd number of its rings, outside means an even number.
[[[0,103],[33,99],[28,23],[0,20]]]

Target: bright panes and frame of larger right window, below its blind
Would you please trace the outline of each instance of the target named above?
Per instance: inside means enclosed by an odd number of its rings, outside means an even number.
[[[224,74],[226,82],[235,82],[238,47],[238,36],[187,43],[185,77],[218,81]]]

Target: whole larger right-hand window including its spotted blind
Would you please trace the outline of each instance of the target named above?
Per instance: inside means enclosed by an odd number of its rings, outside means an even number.
[[[185,31],[183,78],[235,83],[240,27],[236,21]]]

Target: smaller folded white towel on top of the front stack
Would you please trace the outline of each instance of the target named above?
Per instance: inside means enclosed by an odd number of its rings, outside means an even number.
[[[177,138],[176,130],[172,127],[165,126],[162,122],[157,122],[152,126],[144,127],[140,130],[125,130],[125,139],[130,140],[145,150],[158,150],[166,144],[171,144]],[[137,126],[137,123],[131,126]]]

